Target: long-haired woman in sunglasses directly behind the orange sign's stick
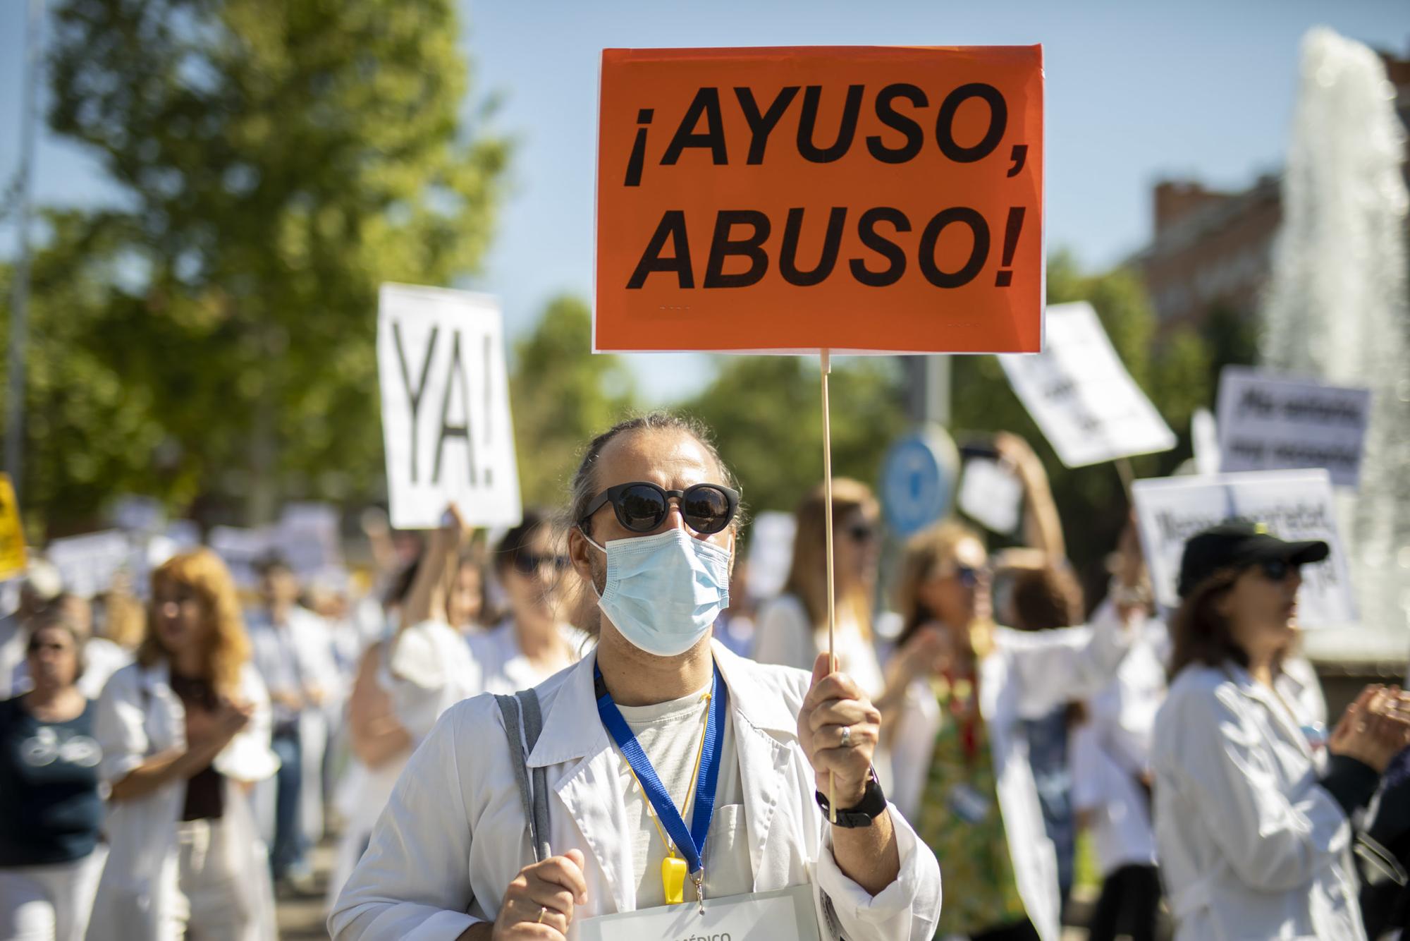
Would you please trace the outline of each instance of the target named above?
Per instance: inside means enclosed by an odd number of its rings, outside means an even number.
[[[788,581],[777,598],[759,612],[753,656],[760,663],[781,663],[811,670],[828,649],[826,514],[833,526],[835,650],[839,669],[867,696],[884,688],[873,639],[877,563],[881,557],[881,505],[866,484],[846,477],[832,481],[832,508],[818,484],[794,514],[792,561]],[[885,779],[885,775],[883,775]]]

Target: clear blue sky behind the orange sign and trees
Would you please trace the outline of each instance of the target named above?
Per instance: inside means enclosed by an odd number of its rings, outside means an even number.
[[[17,165],[24,0],[0,3],[0,185]],[[519,141],[513,196],[482,275],[510,334],[560,292],[592,288],[596,69],[603,47],[1014,45],[1042,42],[1048,80],[1048,244],[1105,267],[1139,248],[1163,175],[1244,186],[1282,164],[1299,41],[1325,24],[1410,54],[1410,3],[1301,0],[1067,3],[1010,0],[709,0],[499,3],[461,0],[474,93],[496,92],[495,126]],[[41,202],[110,196],[96,165],[42,138]],[[14,247],[0,221],[0,253]],[[371,339],[371,320],[368,337]],[[656,401],[708,381],[709,361],[632,357]]]

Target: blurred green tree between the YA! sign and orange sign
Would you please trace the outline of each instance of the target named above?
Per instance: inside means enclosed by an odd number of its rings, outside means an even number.
[[[618,356],[592,356],[592,312],[560,296],[534,332],[515,344],[509,402],[525,505],[565,502],[578,451],[632,411],[632,372]]]

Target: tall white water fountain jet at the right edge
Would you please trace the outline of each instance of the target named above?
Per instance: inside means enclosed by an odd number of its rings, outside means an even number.
[[[1318,27],[1283,176],[1283,229],[1261,358],[1280,372],[1372,389],[1361,485],[1340,497],[1361,625],[1314,632],[1313,656],[1410,653],[1410,298],[1406,133],[1368,47]]]

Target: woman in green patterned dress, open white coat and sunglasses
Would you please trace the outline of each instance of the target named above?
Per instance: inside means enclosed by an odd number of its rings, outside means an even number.
[[[945,870],[940,937],[1058,941],[1058,858],[1021,720],[1105,684],[1128,636],[1110,602],[1091,626],[995,626],[987,563],[977,535],[953,522],[907,546],[888,683],[904,691],[895,803]]]

